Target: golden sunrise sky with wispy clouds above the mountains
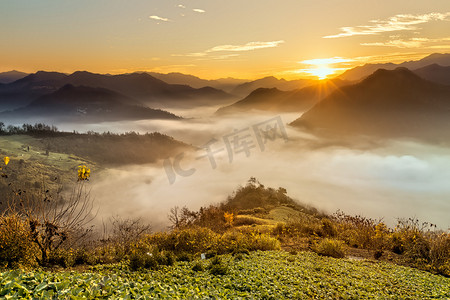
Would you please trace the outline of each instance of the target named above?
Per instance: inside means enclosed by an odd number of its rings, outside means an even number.
[[[325,78],[450,52],[448,0],[0,0],[0,72]]]

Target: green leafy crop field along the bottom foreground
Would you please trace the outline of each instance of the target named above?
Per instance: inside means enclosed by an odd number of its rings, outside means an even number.
[[[225,275],[211,259],[177,262],[159,270],[125,264],[89,271],[0,274],[5,299],[449,299],[450,278],[385,262],[284,251],[225,255]],[[204,270],[194,271],[201,262]],[[194,268],[196,269],[196,268]]]

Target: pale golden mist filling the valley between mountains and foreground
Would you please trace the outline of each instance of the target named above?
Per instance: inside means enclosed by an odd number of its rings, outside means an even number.
[[[330,141],[289,126],[298,114],[260,112],[219,118],[211,112],[214,109],[180,109],[177,114],[187,118],[181,121],[56,124],[61,130],[79,132],[158,131],[198,148],[180,153],[180,167],[187,170],[184,176],[176,170],[168,174],[163,160],[93,173],[89,185],[99,206],[97,221],[115,215],[140,217],[155,230],[166,229],[170,208],[217,204],[256,177],[265,186],[286,188],[290,197],[326,213],[341,210],[383,219],[390,226],[397,218],[408,217],[442,229],[450,226],[446,213],[450,210],[450,151],[445,146],[417,140]],[[263,151],[252,130],[269,120],[281,120],[288,140],[277,135],[266,141]],[[247,140],[254,147],[248,153],[233,153],[230,159],[224,137],[232,136],[234,130],[247,130]],[[211,150],[217,151],[215,167],[202,148],[210,142]],[[174,159],[170,157],[166,165]]]

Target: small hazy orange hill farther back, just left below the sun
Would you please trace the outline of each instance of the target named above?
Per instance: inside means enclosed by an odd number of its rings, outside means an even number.
[[[307,85],[311,85],[313,82],[313,80],[309,79],[288,81],[285,79],[277,79],[273,76],[269,76],[238,85],[234,90],[231,91],[231,93],[233,95],[244,97],[259,88],[277,88],[282,91],[291,91],[300,89]]]

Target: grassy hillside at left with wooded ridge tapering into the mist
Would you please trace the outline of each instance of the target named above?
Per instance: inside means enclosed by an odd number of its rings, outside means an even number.
[[[22,129],[20,129],[22,130]],[[11,159],[0,180],[0,211],[12,191],[62,191],[77,181],[77,168],[87,165],[93,176],[101,169],[154,163],[191,146],[160,134],[98,134],[27,130],[0,131],[0,157]]]

